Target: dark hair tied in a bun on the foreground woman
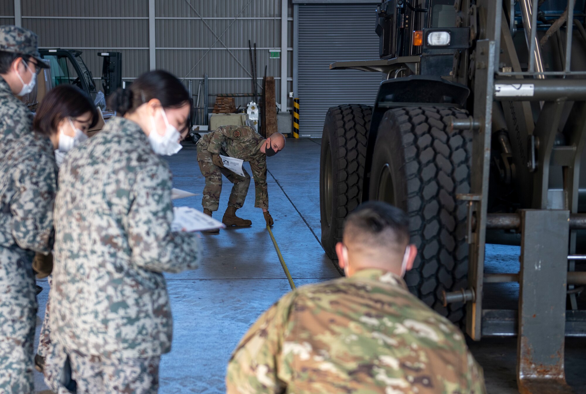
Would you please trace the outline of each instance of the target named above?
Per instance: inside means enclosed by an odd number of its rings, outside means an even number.
[[[128,89],[118,89],[108,97],[108,107],[121,116],[133,113],[153,98],[163,108],[178,108],[189,103],[189,92],[173,74],[154,70],[142,74]]]

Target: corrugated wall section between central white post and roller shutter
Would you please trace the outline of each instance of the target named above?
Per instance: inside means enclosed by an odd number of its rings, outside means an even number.
[[[194,81],[194,90],[207,73],[210,93],[252,93],[250,39],[257,45],[258,90],[265,67],[268,76],[281,79],[281,60],[269,58],[270,49],[281,47],[280,0],[207,0],[190,4],[185,0],[156,2],[158,67],[174,67],[179,77]],[[289,25],[291,31],[292,23]],[[292,34],[289,38],[292,49]],[[288,86],[292,91],[292,56],[288,59]],[[277,97],[280,90],[277,83]],[[250,100],[237,98],[236,105]]]

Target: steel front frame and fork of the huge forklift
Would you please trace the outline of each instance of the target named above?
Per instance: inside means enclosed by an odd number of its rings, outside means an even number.
[[[569,320],[566,316],[568,254],[575,251],[575,230],[570,228],[570,215],[575,215],[578,209],[580,154],[586,139],[586,91],[582,90],[586,87],[586,80],[546,79],[547,76],[559,73],[547,73],[540,69],[539,45],[536,43],[539,0],[520,2],[523,3],[524,11],[527,11],[524,25],[531,27],[526,33],[529,53],[533,56],[530,56],[527,72],[520,70],[510,29],[506,26],[506,19],[503,19],[503,0],[485,0],[481,5],[488,11],[488,16],[486,39],[476,42],[473,118],[466,124],[455,124],[456,128],[476,128],[472,141],[471,191],[459,196],[468,203],[469,209],[469,288],[458,294],[448,294],[448,297],[467,301],[466,331],[473,339],[479,340],[482,335],[517,334],[517,382],[520,392],[569,393],[572,390],[565,383],[564,373],[564,335],[586,334],[586,319],[582,311],[571,311]],[[463,7],[470,6],[469,1],[462,3]],[[510,9],[511,5],[507,5]],[[573,6],[574,0],[569,0],[569,21],[573,20]],[[574,73],[570,70],[573,25],[568,25],[570,28],[566,35],[567,52],[563,74],[581,76],[583,72]],[[499,70],[502,49],[503,56],[512,61],[511,72]],[[496,75],[498,80],[495,80]],[[520,82],[532,85],[532,96],[495,97],[495,84],[518,86]],[[568,95],[563,92],[573,87],[577,91]],[[507,101],[511,106],[513,101],[519,103],[519,100],[523,101],[519,105],[543,101],[535,123],[530,113],[527,114],[523,107],[517,106],[526,121],[524,133],[530,138],[529,141],[538,141],[539,148],[534,150],[536,154],[527,164],[530,176],[533,176],[533,209],[523,209],[515,215],[522,233],[520,272],[516,277],[520,284],[516,325],[513,319],[515,311],[484,310],[482,305],[483,283],[486,282],[484,261],[492,110],[495,100]],[[565,134],[569,138],[564,146],[555,146],[554,140],[566,101],[574,101],[570,120],[565,127]],[[533,154],[533,146],[529,148]],[[549,171],[554,164],[563,167],[566,196],[563,208],[557,210],[546,209]],[[493,224],[492,228],[504,227]],[[573,268],[571,264],[570,269]],[[498,278],[493,279],[496,280],[491,281],[499,281]],[[500,281],[507,281],[507,278],[503,277]]]

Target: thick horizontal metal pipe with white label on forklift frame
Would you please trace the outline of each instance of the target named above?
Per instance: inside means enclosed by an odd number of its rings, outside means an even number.
[[[497,101],[584,101],[586,79],[495,79]]]

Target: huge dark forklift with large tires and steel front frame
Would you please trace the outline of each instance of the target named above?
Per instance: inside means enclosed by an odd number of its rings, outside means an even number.
[[[360,202],[404,209],[410,290],[476,341],[516,335],[523,393],[572,392],[564,337],[586,336],[585,6],[385,1],[380,59],[331,65],[385,77],[373,106],[326,115],[325,252]],[[486,243],[520,244],[519,264],[485,271]]]

